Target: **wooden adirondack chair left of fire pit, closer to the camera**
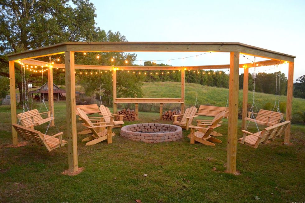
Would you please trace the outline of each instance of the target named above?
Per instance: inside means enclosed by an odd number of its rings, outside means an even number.
[[[91,136],[82,139],[82,142],[87,142],[86,146],[94,145],[103,140],[107,140],[107,143],[112,143],[112,136],[115,136],[115,133],[112,132],[112,123],[106,125],[106,122],[97,122],[92,123],[91,121],[99,121],[98,119],[89,119],[88,116],[80,108],[77,108],[78,115],[85,123],[86,127],[91,130],[93,133]],[[92,118],[92,117],[91,117]],[[101,125],[102,124],[102,125]]]

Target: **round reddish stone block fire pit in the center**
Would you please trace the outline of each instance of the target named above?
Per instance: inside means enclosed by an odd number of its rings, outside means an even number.
[[[122,127],[120,134],[122,137],[142,142],[171,142],[182,138],[182,128],[169,124],[141,123]]]

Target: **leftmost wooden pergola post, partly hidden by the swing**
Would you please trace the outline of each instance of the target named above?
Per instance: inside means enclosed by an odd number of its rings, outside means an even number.
[[[12,124],[17,123],[16,115],[16,87],[15,87],[15,62],[9,61],[9,71],[10,71],[10,95],[11,95],[11,117]],[[12,136],[13,136],[13,145],[18,145],[17,132],[12,126]]]

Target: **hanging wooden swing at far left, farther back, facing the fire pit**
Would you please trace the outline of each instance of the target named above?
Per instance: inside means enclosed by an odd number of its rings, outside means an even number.
[[[48,117],[44,119],[41,117],[42,114],[47,114]],[[54,117],[50,116],[50,111],[39,113],[37,109],[17,114],[17,118],[20,120],[23,126],[31,129],[34,129],[34,126],[47,123],[54,119]]]

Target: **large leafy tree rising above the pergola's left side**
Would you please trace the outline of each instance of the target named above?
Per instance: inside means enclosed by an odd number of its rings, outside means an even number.
[[[8,53],[65,41],[106,40],[105,31],[95,26],[95,7],[89,0],[0,0],[0,6],[0,75],[5,77]]]

